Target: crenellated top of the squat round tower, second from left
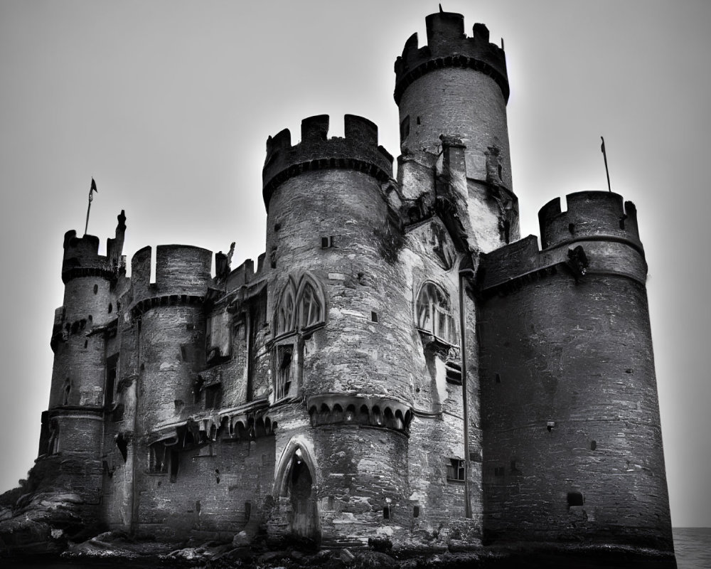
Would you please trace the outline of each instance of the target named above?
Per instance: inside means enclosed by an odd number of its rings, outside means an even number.
[[[144,306],[150,299],[202,298],[212,282],[210,250],[192,245],[158,245],[154,283],[150,282],[151,261],[151,247],[138,250],[131,260],[134,307]]]

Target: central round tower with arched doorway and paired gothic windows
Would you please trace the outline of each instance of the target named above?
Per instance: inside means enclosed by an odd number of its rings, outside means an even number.
[[[274,490],[310,512],[292,516],[292,533],[326,541],[335,523],[356,540],[397,523],[407,499],[412,309],[396,263],[402,233],[381,191],[391,176],[392,156],[362,117],[346,115],[343,138],[328,139],[324,115],[301,122],[299,144],[288,130],[267,141],[272,398],[275,413],[280,402],[292,409],[277,429]],[[291,488],[297,474],[317,496]]]

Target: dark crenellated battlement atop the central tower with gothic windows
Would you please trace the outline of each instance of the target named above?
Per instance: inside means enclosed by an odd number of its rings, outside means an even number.
[[[328,138],[328,115],[301,121],[301,142],[292,146],[289,129],[267,139],[267,159],[262,170],[264,205],[285,180],[301,172],[347,169],[365,172],[380,181],[392,177],[392,156],[378,146],[378,127],[363,117],[344,117],[345,137]]]

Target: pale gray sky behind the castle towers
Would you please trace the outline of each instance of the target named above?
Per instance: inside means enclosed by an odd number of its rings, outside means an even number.
[[[444,1],[506,42],[508,124],[522,235],[551,198],[605,189],[634,201],[649,265],[674,526],[711,526],[711,2]],[[437,2],[0,0],[0,489],[33,464],[63,302],[65,231],[124,253],[185,243],[264,248],[267,136],[301,119],[363,115],[399,154],[392,65],[425,43]]]

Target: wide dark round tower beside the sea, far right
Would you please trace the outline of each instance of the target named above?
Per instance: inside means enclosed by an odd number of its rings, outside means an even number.
[[[484,261],[485,535],[670,549],[636,209],[584,191],[539,218],[540,253],[532,238]]]

